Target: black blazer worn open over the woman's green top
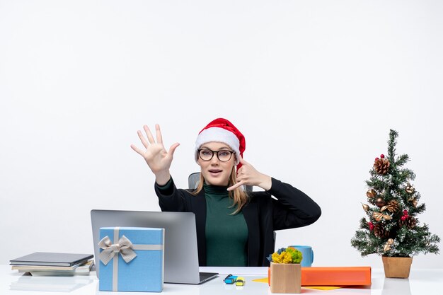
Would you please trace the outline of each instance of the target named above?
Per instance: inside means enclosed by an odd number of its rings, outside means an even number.
[[[155,184],[155,191],[162,211],[194,212],[197,224],[198,260],[200,266],[205,266],[205,191],[191,195],[188,190],[177,189],[174,183],[168,190],[160,190]],[[249,201],[242,209],[248,226],[248,266],[270,265],[266,258],[274,252],[274,231],[307,226],[321,216],[318,204],[304,192],[274,178],[270,190],[248,192],[248,196]]]

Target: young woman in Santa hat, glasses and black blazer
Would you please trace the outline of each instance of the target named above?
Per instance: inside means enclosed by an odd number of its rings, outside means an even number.
[[[144,149],[131,147],[156,176],[161,210],[195,213],[200,266],[267,266],[275,230],[307,226],[321,215],[318,204],[304,192],[243,160],[245,138],[226,119],[210,122],[197,136],[200,183],[193,191],[178,189],[169,173],[179,144],[166,151],[159,125],[156,139],[146,125],[144,132],[147,140],[137,131]],[[265,191],[245,192],[243,185]]]

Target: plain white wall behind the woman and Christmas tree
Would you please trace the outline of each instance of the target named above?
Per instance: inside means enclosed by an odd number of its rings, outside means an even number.
[[[371,265],[350,239],[369,170],[399,132],[419,216],[443,238],[442,1],[0,1],[0,263],[92,253],[91,209],[159,210],[130,144],[159,123],[179,187],[226,117],[244,158],[320,204],[280,231],[316,266]],[[442,248],[442,243],[439,244]],[[418,255],[413,267],[442,267]]]

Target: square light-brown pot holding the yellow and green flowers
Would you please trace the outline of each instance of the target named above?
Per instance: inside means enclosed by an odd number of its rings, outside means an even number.
[[[270,267],[271,293],[301,293],[301,265],[273,263]]]

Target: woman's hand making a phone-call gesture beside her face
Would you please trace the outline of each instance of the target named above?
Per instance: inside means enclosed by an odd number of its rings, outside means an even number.
[[[270,176],[258,172],[255,168],[243,158],[238,155],[241,163],[241,168],[237,171],[237,183],[228,187],[228,190],[234,190],[240,185],[256,185],[263,188],[263,190],[270,190],[272,186],[272,180]]]

